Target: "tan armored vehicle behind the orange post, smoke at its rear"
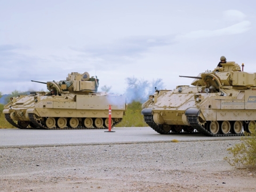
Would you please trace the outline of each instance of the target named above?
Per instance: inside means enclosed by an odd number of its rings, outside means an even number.
[[[125,95],[97,92],[99,79],[87,72],[73,72],[66,81],[44,84],[51,93],[32,92],[11,98],[3,110],[9,123],[20,129],[103,129],[108,127],[109,105],[112,127],[125,114]]]

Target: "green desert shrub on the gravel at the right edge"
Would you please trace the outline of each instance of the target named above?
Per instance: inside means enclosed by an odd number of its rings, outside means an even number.
[[[228,148],[231,157],[224,159],[232,166],[256,168],[256,132],[246,133],[241,143]]]

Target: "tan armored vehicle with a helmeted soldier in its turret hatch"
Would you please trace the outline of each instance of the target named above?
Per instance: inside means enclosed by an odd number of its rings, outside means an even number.
[[[207,136],[243,135],[256,122],[256,73],[235,62],[205,71],[174,90],[156,90],[142,105],[145,122],[156,132],[194,132]],[[243,67],[243,65],[242,65]],[[182,131],[183,130],[183,131]]]

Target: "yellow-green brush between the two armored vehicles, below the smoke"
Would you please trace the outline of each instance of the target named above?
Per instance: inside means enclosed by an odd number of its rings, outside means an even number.
[[[141,115],[141,103],[133,101],[128,104],[123,121],[116,125],[116,127],[145,127],[148,126]]]

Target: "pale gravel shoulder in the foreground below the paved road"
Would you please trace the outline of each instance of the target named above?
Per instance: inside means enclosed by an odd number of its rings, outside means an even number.
[[[1,191],[255,191],[223,157],[239,140],[0,149]]]

